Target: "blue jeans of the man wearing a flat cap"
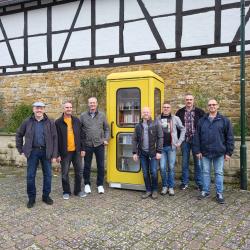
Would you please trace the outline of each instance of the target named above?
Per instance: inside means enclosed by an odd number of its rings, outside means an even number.
[[[29,200],[36,199],[36,171],[39,164],[43,171],[43,196],[48,197],[51,192],[51,161],[46,159],[45,150],[33,149],[27,159],[27,193]]]

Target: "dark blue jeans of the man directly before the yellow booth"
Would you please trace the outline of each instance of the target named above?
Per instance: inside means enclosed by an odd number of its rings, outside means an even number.
[[[157,160],[155,157],[151,158],[149,153],[142,152],[140,154],[140,161],[142,166],[143,178],[147,192],[158,190],[158,173]]]

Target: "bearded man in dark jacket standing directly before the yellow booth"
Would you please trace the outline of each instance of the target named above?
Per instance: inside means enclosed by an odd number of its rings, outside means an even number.
[[[152,121],[150,109],[142,109],[142,121],[135,126],[133,136],[133,159],[141,161],[143,178],[146,187],[146,193],[142,195],[143,199],[152,195],[157,198],[158,190],[158,172],[157,160],[161,158],[163,147],[163,131],[157,121]]]

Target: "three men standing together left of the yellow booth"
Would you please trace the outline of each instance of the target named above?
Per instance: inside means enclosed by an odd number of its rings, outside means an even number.
[[[89,110],[78,119],[72,115],[72,103],[66,101],[62,116],[54,122],[45,114],[43,102],[33,103],[33,115],[21,124],[16,133],[17,150],[27,158],[28,208],[32,208],[36,202],[35,178],[39,161],[43,172],[42,200],[48,205],[53,204],[50,197],[52,162],[61,164],[63,199],[68,200],[71,195],[71,163],[75,174],[74,195],[85,197],[86,193],[91,193],[90,170],[95,154],[98,193],[104,193],[104,146],[108,144],[109,127],[105,115],[98,111],[97,106],[97,99],[89,98]],[[84,191],[81,190],[82,176]]]

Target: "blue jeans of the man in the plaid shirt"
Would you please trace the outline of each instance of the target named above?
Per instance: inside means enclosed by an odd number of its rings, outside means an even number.
[[[193,151],[192,142],[183,142],[181,144],[182,151],[182,183],[188,185],[189,183],[189,159],[190,151],[192,151],[194,159],[194,180],[197,186],[202,186],[202,177],[201,177],[201,164],[200,160],[197,159]]]

